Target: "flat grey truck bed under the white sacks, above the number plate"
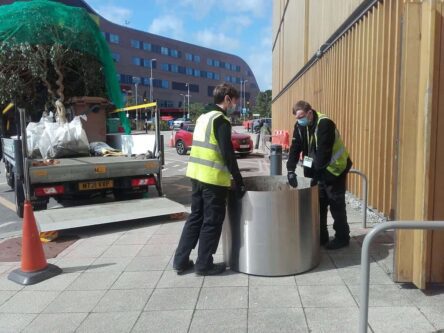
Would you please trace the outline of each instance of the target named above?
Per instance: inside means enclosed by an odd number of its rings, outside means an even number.
[[[128,156],[59,158],[53,165],[33,166],[42,161],[30,160],[31,184],[146,175],[159,173],[161,167],[158,159]]]

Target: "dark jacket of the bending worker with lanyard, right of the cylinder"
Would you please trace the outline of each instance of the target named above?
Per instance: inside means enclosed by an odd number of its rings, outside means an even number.
[[[313,158],[312,168],[304,167],[304,176],[313,178],[317,181],[331,183],[338,178],[327,171],[327,167],[331,160],[333,145],[335,143],[336,125],[328,118],[319,122],[317,130],[318,145],[316,147],[314,133],[316,131],[318,116],[316,112],[314,112],[313,115],[314,117],[311,125],[300,126],[297,121],[294,125],[293,139],[291,141],[290,154],[287,161],[287,170],[294,171],[296,169],[296,165],[302,152],[303,156],[310,156]],[[347,161],[347,167],[342,174],[347,173],[351,166],[352,162],[349,158]]]

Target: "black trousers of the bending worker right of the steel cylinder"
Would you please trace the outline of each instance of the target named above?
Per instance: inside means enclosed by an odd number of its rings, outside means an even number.
[[[345,191],[348,172],[344,172],[334,182],[319,182],[319,208],[321,220],[321,239],[327,235],[327,213],[330,207],[333,216],[333,229],[335,238],[340,240],[350,239],[350,227],[347,223],[345,206]]]

